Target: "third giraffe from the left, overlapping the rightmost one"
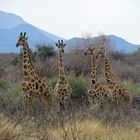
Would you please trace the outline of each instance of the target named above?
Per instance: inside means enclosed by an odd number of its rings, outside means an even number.
[[[102,107],[104,103],[111,103],[112,97],[107,88],[103,86],[98,80],[96,63],[98,52],[96,52],[95,47],[93,46],[93,44],[91,44],[88,46],[84,54],[89,56],[91,61],[91,81],[88,90],[89,104],[94,104],[97,107]]]

